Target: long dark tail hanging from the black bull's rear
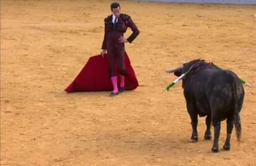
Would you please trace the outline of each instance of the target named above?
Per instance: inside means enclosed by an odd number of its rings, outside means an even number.
[[[241,119],[240,119],[240,112],[241,107],[239,106],[239,99],[237,96],[237,85],[234,85],[234,125],[236,127],[236,137],[237,140],[241,140],[241,133],[242,133],[242,127],[241,127]]]

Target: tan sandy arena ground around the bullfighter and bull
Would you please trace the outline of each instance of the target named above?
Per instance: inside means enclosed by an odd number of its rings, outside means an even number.
[[[110,98],[64,88],[100,53],[111,1],[1,1],[1,165],[255,165],[256,6],[120,2],[141,31],[126,44],[140,86]],[[253,85],[229,152],[210,152],[205,118],[189,142],[181,84],[160,94],[166,68],[198,58]]]

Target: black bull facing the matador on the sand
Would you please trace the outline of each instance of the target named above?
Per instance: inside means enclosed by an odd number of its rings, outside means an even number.
[[[230,149],[233,126],[236,127],[237,139],[241,138],[241,121],[239,112],[244,101],[244,87],[234,72],[220,70],[202,60],[192,60],[180,67],[166,70],[177,77],[192,67],[191,72],[182,80],[184,96],[187,102],[192,125],[191,141],[198,140],[197,117],[207,116],[205,139],[211,139],[211,124],[214,127],[212,152],[218,152],[221,121],[226,119],[227,137],[223,149]]]

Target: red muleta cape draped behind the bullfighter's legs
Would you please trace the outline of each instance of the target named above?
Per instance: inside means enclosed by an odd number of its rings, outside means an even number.
[[[81,72],[75,80],[67,86],[65,91],[67,93],[80,92],[80,91],[112,91],[113,86],[111,79],[109,78],[109,65],[108,54],[105,54],[104,58],[101,55],[90,57],[87,64],[82,68]],[[133,90],[139,85],[136,78],[134,69],[130,64],[130,59],[125,55],[125,65],[127,75],[125,77],[126,90]],[[117,75],[119,75],[118,70]],[[119,85],[118,78],[118,85]]]

